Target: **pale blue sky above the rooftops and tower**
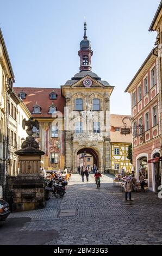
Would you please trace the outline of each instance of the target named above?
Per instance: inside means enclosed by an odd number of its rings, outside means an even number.
[[[124,90],[152,50],[160,0],[0,0],[0,26],[16,87],[60,88],[79,71],[84,16],[92,71],[115,86],[110,112],[130,114]]]

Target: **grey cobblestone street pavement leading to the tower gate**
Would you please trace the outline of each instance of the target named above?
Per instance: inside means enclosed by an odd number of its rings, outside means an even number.
[[[162,245],[162,199],[150,191],[133,192],[132,202],[113,186],[111,175],[94,175],[82,182],[73,174],[63,199],[52,198],[45,209],[17,212],[11,218],[30,218],[19,231],[55,230],[46,245]]]

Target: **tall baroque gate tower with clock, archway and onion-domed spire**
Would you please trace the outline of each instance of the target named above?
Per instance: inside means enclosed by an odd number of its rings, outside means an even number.
[[[110,167],[109,100],[114,87],[91,71],[92,54],[84,22],[79,72],[61,86],[65,97],[65,167],[73,172],[77,172],[80,157],[87,154],[93,159],[91,167]]]

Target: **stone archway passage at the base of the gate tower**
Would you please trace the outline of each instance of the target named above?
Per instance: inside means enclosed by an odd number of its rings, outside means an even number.
[[[96,164],[97,168],[101,169],[101,157],[98,150],[92,147],[82,147],[82,148],[78,148],[74,152],[74,157],[73,157],[74,172],[77,172],[77,155],[85,154],[85,153],[93,156],[94,163]]]

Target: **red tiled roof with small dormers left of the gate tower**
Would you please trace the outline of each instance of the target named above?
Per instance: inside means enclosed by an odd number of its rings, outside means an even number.
[[[57,111],[60,111],[64,115],[65,98],[61,95],[61,89],[59,88],[31,88],[31,87],[14,87],[16,94],[23,91],[26,93],[26,99],[23,100],[30,113],[33,113],[33,106],[38,103],[41,106],[41,114],[32,114],[33,117],[52,117],[49,112],[49,106],[53,104],[57,107]],[[57,93],[56,100],[50,100],[49,94]]]

